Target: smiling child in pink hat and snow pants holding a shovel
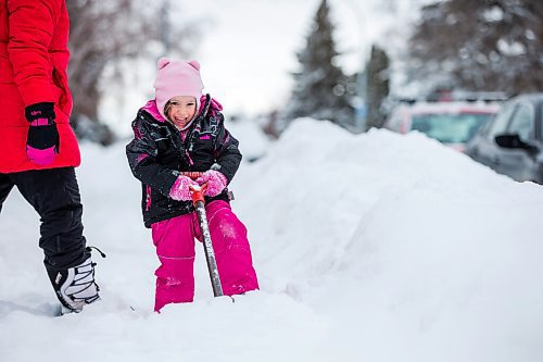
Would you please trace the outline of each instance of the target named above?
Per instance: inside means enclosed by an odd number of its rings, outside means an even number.
[[[126,147],[142,183],[141,207],[161,266],[154,310],[194,297],[194,237],[201,240],[189,186],[207,184],[205,210],[217,269],[227,296],[258,288],[245,226],[230,209],[227,185],[241,162],[238,140],[224,125],[222,105],[202,95],[200,64],[159,60],[155,99],[132,122]],[[197,112],[198,110],[198,112]],[[192,180],[181,172],[204,172]]]

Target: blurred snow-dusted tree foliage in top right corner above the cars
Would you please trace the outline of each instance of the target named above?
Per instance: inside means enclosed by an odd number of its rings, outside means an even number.
[[[420,79],[509,95],[543,89],[543,1],[445,0],[422,9],[411,39]]]

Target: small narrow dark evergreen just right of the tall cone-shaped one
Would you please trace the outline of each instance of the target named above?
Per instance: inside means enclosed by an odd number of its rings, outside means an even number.
[[[371,55],[366,66],[367,85],[366,97],[368,105],[368,116],[366,128],[381,128],[386,115],[382,112],[382,102],[389,96],[389,55],[377,46],[371,47]]]

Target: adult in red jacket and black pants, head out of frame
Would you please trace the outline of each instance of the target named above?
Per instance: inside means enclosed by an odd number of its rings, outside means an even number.
[[[0,0],[0,211],[16,186],[41,217],[39,246],[63,310],[78,312],[99,296],[74,170],[68,30],[65,0]]]

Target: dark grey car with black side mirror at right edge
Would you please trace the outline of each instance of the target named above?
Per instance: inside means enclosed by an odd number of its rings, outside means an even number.
[[[466,153],[497,173],[543,184],[543,93],[505,102],[467,145]]]

